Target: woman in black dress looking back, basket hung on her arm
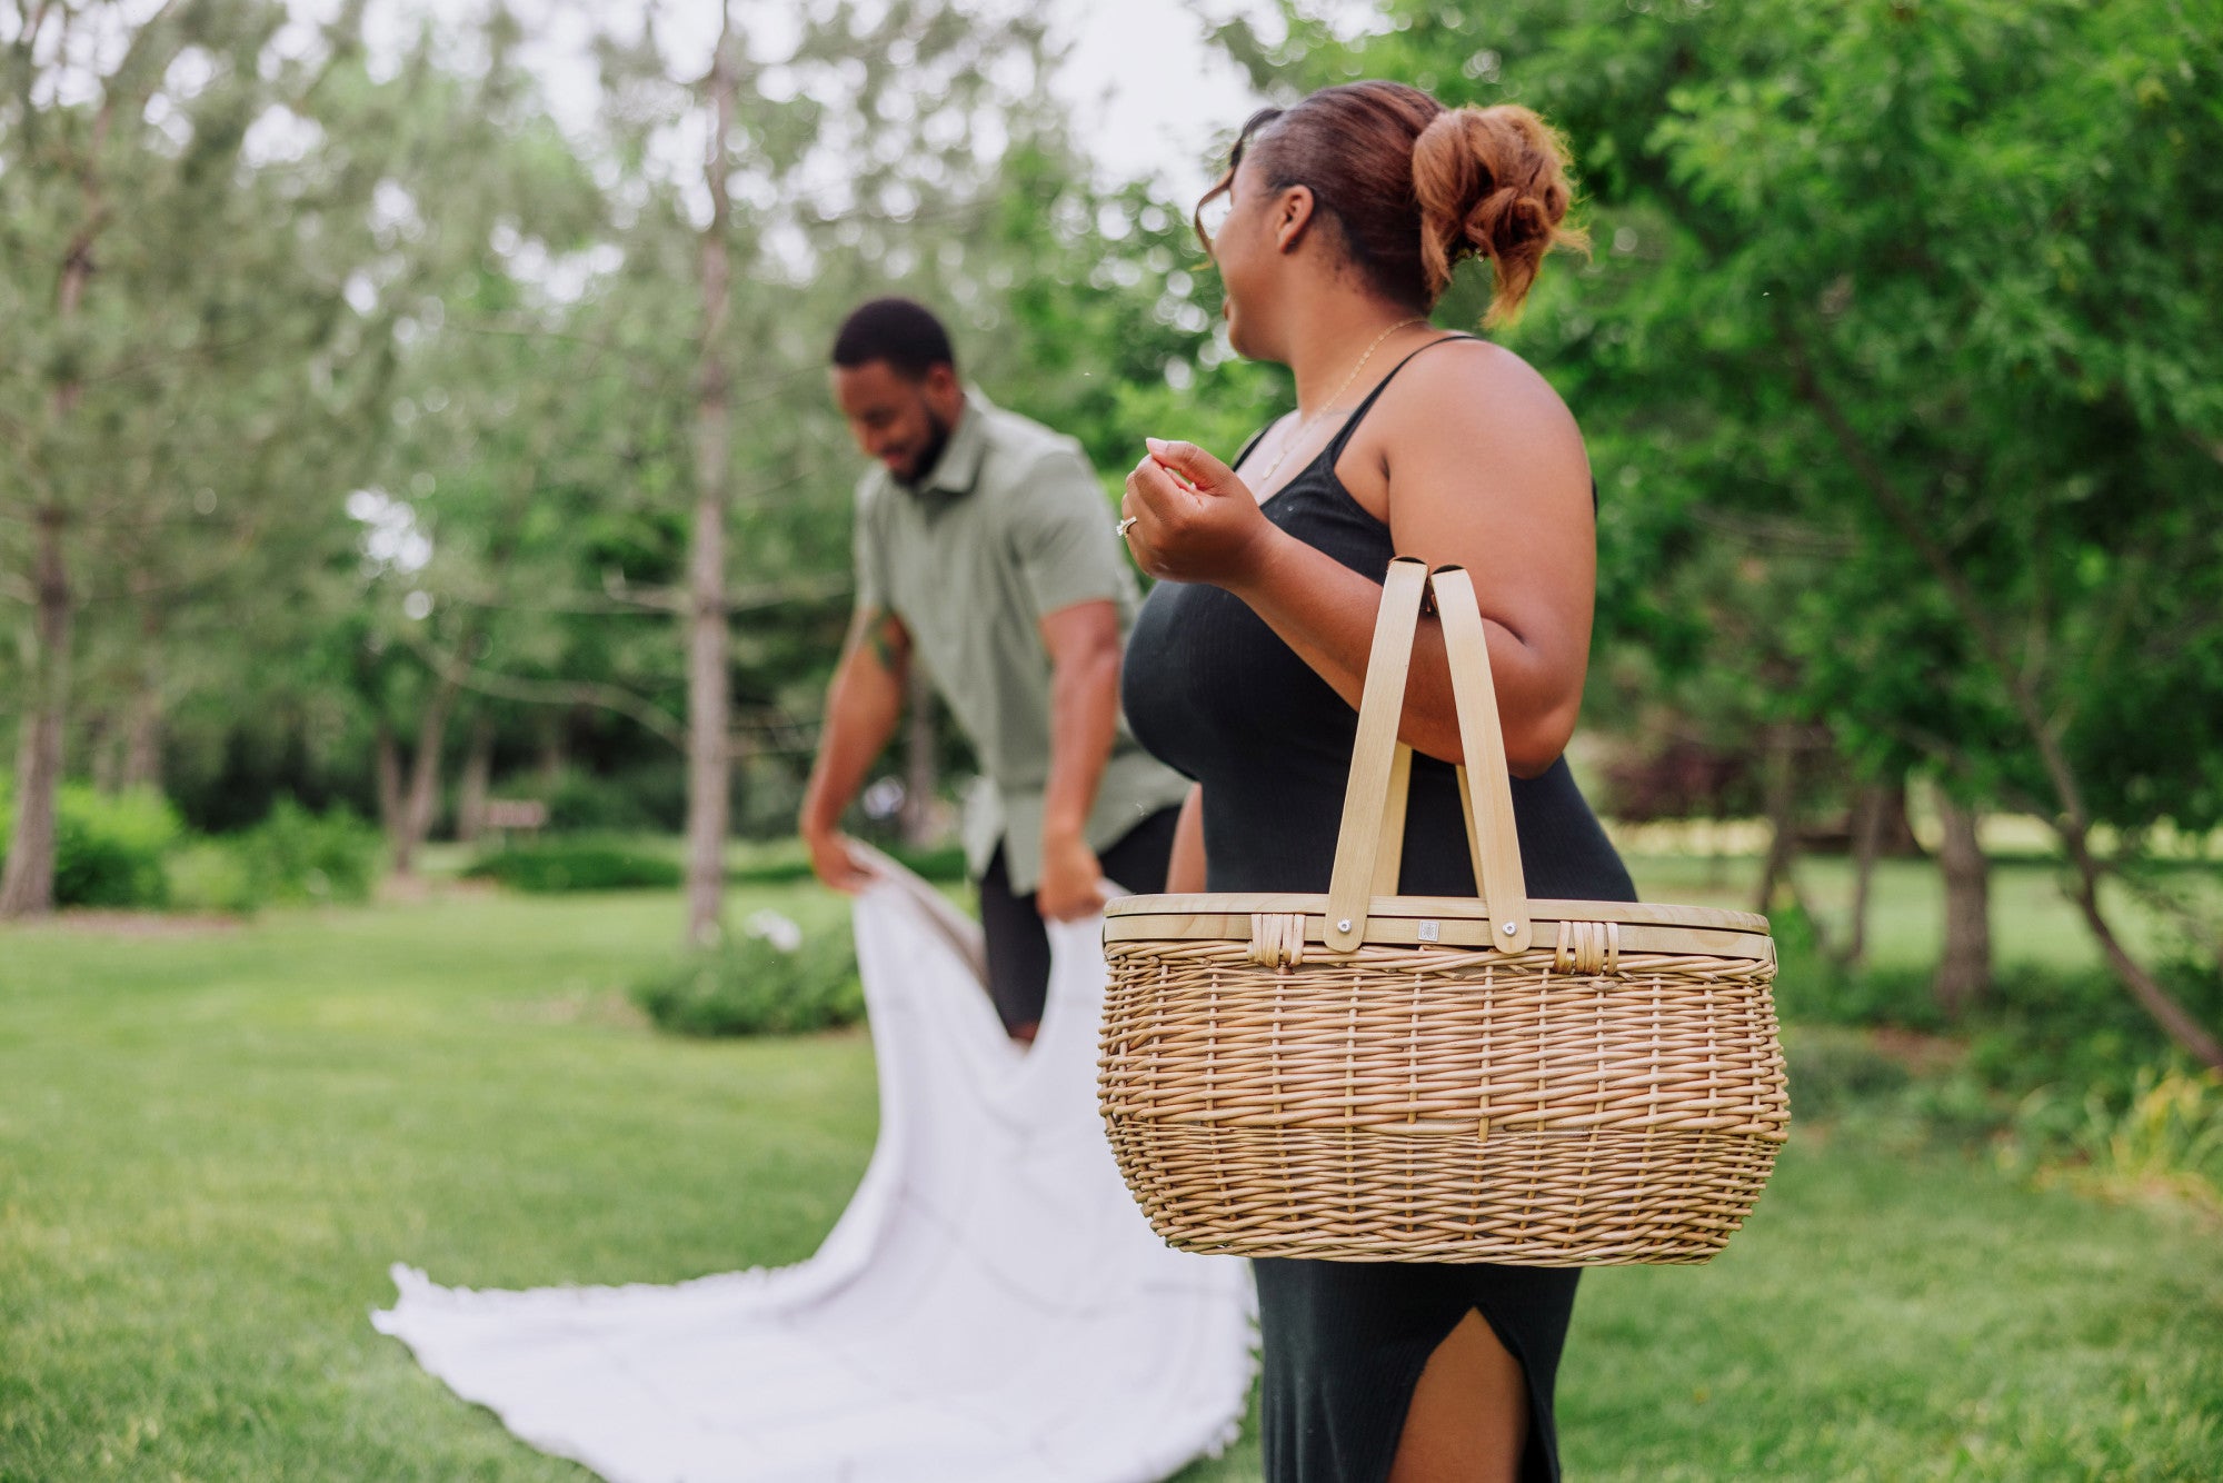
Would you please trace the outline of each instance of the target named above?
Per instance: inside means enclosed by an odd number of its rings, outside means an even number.
[[[1474,576],[1529,894],[1634,900],[1567,774],[1589,654],[1583,438],[1518,356],[1427,316],[1467,256],[1492,318],[1563,227],[1558,138],[1527,109],[1445,109],[1394,82],[1252,118],[1216,236],[1234,347],[1296,374],[1296,411],[1236,460],[1152,440],[1123,529],[1163,578],[1127,651],[1136,736],[1196,780],[1174,892],[1325,892],[1380,580],[1392,556]],[[1198,211],[1203,211],[1203,205]],[[1416,749],[1409,894],[1472,896],[1443,631],[1423,623],[1400,727]],[[1554,1479],[1552,1379],[1576,1272],[1260,1261],[1274,1483]]]

